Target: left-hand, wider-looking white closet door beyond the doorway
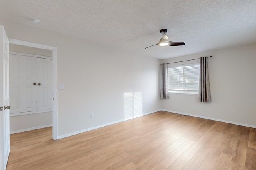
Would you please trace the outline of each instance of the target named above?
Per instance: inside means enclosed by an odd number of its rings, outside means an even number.
[[[37,58],[10,54],[10,113],[37,111]]]

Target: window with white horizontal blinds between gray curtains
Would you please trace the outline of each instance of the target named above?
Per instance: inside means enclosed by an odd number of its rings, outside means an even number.
[[[198,94],[199,67],[199,63],[168,66],[169,92]]]

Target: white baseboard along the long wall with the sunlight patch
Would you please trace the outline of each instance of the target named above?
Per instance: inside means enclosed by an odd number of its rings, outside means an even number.
[[[113,121],[113,122],[110,122],[110,123],[105,123],[103,125],[98,125],[98,126],[95,126],[95,127],[90,127],[88,129],[84,129],[84,130],[81,130],[81,131],[76,131],[76,132],[73,132],[73,133],[68,133],[66,135],[60,135],[60,136],[57,137],[57,139],[62,139],[62,138],[65,138],[65,137],[70,137],[70,136],[73,136],[73,135],[77,135],[79,133],[84,133],[84,132],[91,131],[91,130],[94,130],[94,129],[98,129],[98,128],[101,128],[101,127],[105,127],[105,126],[108,126],[108,125],[113,125],[115,123],[120,123],[122,121],[127,121],[127,120],[134,119],[134,118],[137,118],[137,117],[141,117],[141,116],[144,116],[144,115],[149,115],[149,114],[155,113],[157,111],[161,111],[161,109],[155,110],[155,111],[150,111],[148,113],[144,113],[144,114],[141,114],[141,115],[136,115],[136,116],[133,116],[133,117],[128,117],[128,118],[121,119],[121,120],[118,120],[118,121]]]

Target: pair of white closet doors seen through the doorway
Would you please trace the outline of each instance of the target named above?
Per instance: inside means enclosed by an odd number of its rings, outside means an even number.
[[[52,109],[52,60],[10,54],[10,113]]]

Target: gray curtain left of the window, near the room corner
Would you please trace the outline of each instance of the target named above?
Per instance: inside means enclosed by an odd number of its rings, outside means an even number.
[[[161,99],[168,99],[169,98],[168,73],[167,73],[167,64],[166,63],[161,64],[160,78],[161,78],[161,82],[160,82]]]

